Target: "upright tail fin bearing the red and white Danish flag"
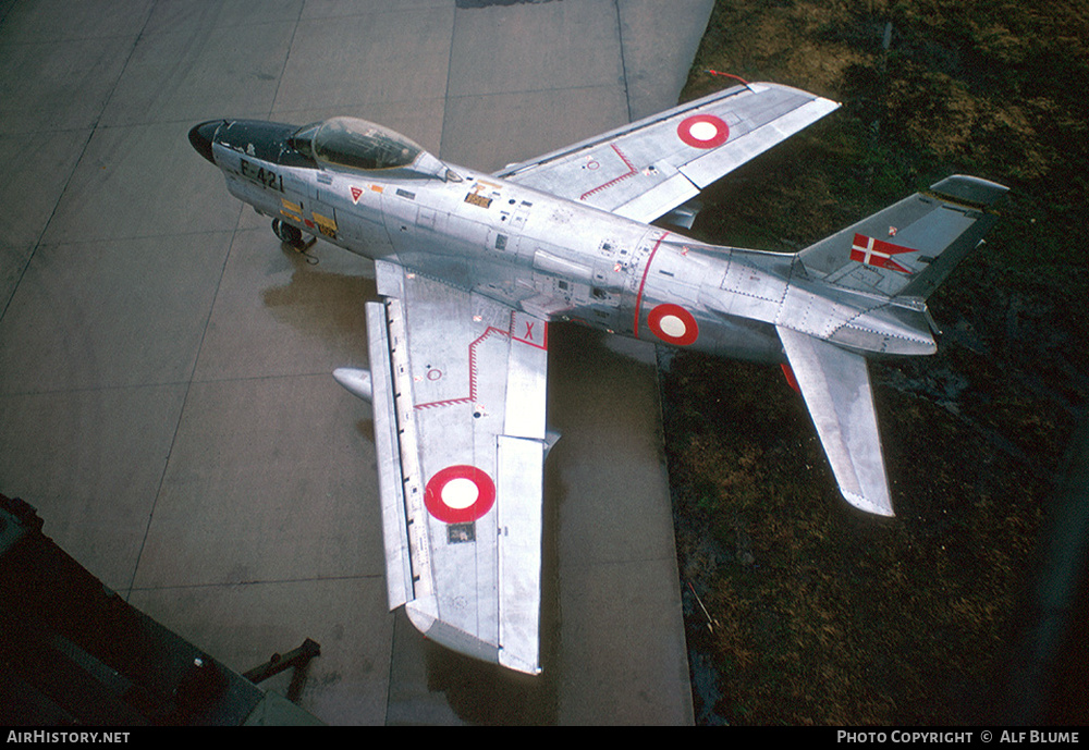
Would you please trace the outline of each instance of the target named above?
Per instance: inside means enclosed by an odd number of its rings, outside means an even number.
[[[926,299],[991,229],[1006,187],[953,175],[798,254],[806,270],[845,288]]]

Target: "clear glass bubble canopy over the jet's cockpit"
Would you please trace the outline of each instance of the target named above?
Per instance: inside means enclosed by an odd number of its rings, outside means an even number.
[[[355,118],[331,118],[304,125],[289,143],[318,162],[367,171],[409,167],[424,152],[403,135]]]

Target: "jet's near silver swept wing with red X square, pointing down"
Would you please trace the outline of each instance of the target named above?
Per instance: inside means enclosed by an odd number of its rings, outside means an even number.
[[[367,305],[369,390],[390,608],[404,604],[443,646],[537,673],[547,323],[376,269],[387,299]]]

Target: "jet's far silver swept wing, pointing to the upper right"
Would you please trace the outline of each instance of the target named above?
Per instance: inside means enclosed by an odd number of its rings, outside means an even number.
[[[837,107],[788,86],[735,86],[497,176],[650,222]]]

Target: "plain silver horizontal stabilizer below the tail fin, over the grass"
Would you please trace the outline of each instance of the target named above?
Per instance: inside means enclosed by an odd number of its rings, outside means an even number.
[[[861,511],[892,516],[866,358],[806,333],[778,328],[843,496]]]

